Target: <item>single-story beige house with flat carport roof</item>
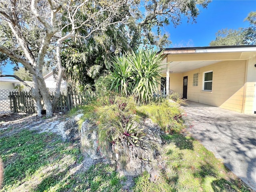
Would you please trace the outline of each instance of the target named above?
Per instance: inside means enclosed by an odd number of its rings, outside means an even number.
[[[161,81],[169,90],[194,102],[256,114],[256,45],[166,48],[163,54]]]

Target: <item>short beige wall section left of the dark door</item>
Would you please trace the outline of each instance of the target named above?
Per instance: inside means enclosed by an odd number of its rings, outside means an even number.
[[[169,89],[182,96],[183,76],[182,73],[170,73]]]

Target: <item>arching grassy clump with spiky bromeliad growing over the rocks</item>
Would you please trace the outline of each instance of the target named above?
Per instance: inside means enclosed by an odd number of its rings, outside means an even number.
[[[104,152],[112,153],[108,148],[110,143],[118,146],[124,142],[127,146],[140,144],[143,138],[142,130],[134,127],[132,123],[135,107],[132,98],[117,96],[109,98],[108,104],[104,106],[95,106],[91,119],[94,119],[99,127],[99,146]]]

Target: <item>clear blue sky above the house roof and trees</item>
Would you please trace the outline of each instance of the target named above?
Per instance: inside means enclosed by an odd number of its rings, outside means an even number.
[[[182,24],[174,28],[165,26],[172,44],[170,47],[200,47],[208,46],[215,39],[215,34],[221,29],[238,29],[248,27],[244,18],[249,12],[256,11],[256,0],[212,0],[207,9],[200,9],[196,23]],[[13,74],[12,66],[7,65],[3,74]]]

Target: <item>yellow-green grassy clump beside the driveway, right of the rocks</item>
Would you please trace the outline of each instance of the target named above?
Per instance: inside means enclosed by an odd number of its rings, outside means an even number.
[[[151,102],[148,105],[139,106],[137,112],[151,118],[165,132],[180,132],[183,128],[182,112],[179,106],[170,103],[167,99],[162,100],[162,102]]]

